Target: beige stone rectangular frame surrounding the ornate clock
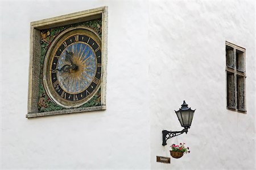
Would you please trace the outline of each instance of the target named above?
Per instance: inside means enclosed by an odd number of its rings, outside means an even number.
[[[102,43],[102,80],[99,92],[101,96],[101,105],[92,107],[79,107],[73,109],[64,109],[56,111],[39,112],[38,100],[40,89],[40,56],[41,56],[41,30],[49,28],[63,27],[69,24],[77,24],[88,22],[101,18],[101,43]],[[30,34],[30,69],[29,69],[29,83],[28,83],[28,113],[27,118],[42,117],[46,115],[79,113],[84,111],[105,110],[106,109],[106,64],[107,64],[107,35],[108,35],[108,7],[99,7],[97,9],[81,11],[68,15],[57,16],[39,20],[31,23]]]

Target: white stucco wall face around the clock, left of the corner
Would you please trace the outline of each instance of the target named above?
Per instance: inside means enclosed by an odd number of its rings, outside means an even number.
[[[110,8],[107,110],[25,118],[30,22],[105,5]],[[148,23],[143,3],[1,2],[0,6],[1,70],[7,71],[1,73],[2,168],[149,169],[148,36],[139,29]]]

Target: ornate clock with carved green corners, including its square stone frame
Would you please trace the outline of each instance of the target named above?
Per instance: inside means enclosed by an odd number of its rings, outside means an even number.
[[[106,23],[107,7],[31,23],[27,118],[106,109]]]

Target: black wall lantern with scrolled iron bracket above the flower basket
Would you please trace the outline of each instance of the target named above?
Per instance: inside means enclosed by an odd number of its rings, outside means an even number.
[[[174,110],[175,111],[175,110]],[[183,104],[181,105],[180,110],[175,111],[175,113],[177,114],[177,117],[180,121],[180,125],[182,127],[184,127],[183,130],[181,131],[167,131],[167,130],[163,130],[163,146],[166,146],[166,140],[177,136],[177,135],[181,135],[184,132],[188,132],[188,128],[190,128],[191,123],[192,123],[192,119],[193,119],[193,115],[195,113],[195,110],[192,110],[190,107],[188,108],[188,105],[185,103],[185,101],[183,101]]]

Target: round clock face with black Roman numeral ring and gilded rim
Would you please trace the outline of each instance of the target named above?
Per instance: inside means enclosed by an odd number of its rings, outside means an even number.
[[[88,28],[65,30],[48,49],[43,68],[48,96],[58,105],[79,107],[101,84],[101,40]]]

